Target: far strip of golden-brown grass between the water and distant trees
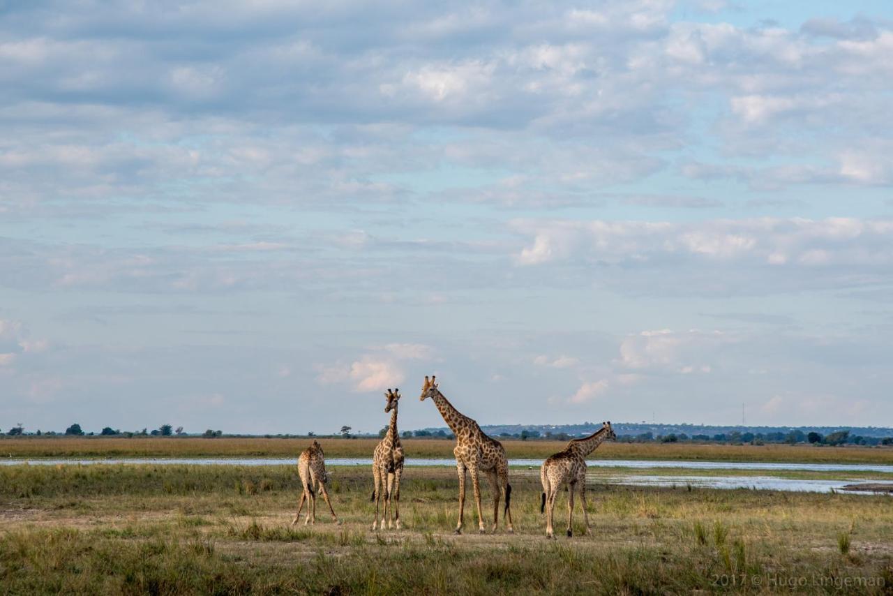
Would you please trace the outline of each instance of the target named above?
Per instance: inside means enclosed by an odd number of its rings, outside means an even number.
[[[296,457],[308,439],[22,437],[0,440],[0,456],[36,457]],[[371,457],[376,439],[320,439],[326,457]],[[548,457],[565,441],[503,441],[509,457]],[[453,457],[455,441],[406,439],[408,457]],[[602,459],[677,459],[893,464],[889,447],[816,447],[805,445],[711,445],[697,443],[603,444]]]

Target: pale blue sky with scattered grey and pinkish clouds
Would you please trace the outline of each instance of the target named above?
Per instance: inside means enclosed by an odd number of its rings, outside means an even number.
[[[0,428],[893,425],[893,4],[0,2]]]

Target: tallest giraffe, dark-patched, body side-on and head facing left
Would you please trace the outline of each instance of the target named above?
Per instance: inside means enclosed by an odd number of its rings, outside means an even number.
[[[426,398],[434,400],[434,405],[438,407],[440,416],[443,416],[444,421],[455,434],[453,454],[455,455],[456,470],[459,473],[459,523],[455,526],[455,533],[462,533],[466,471],[472,475],[474,500],[478,506],[478,531],[486,532],[484,517],[480,512],[480,482],[478,479],[478,474],[483,472],[489,476],[490,484],[493,486],[493,532],[496,532],[499,526],[500,492],[505,491],[505,525],[508,533],[513,533],[512,508],[509,505],[512,498],[512,485],[508,483],[508,458],[505,457],[502,443],[490,439],[480,431],[478,423],[468,416],[460,414],[440,392],[438,383],[435,382],[433,376],[430,381],[426,376],[425,383],[421,387],[419,399],[424,401]]]

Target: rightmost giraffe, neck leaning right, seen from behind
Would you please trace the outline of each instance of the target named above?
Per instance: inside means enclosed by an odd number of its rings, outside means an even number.
[[[573,518],[573,491],[580,487],[580,499],[583,501],[583,520],[586,522],[586,533],[589,533],[589,514],[586,511],[586,456],[594,451],[602,441],[616,439],[610,422],[605,422],[597,432],[585,439],[574,439],[563,451],[549,457],[539,468],[539,480],[543,483],[543,499],[540,512],[546,511],[546,537],[555,538],[552,520],[555,516],[555,497],[558,489],[568,483],[567,501],[567,536],[573,535],[571,520]]]

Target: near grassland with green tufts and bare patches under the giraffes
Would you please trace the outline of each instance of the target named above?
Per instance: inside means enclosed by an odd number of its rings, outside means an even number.
[[[371,474],[331,467],[342,525],[289,525],[293,466],[0,468],[0,592],[889,593],[893,501],[595,484],[594,533],[546,541],[513,474],[514,535],[451,533],[455,471],[412,468],[405,529],[372,533]],[[488,488],[484,492],[488,509]],[[473,510],[473,507],[471,508]],[[559,498],[556,525],[566,523]],[[485,516],[488,516],[488,512]],[[560,520],[560,522],[559,522]]]

